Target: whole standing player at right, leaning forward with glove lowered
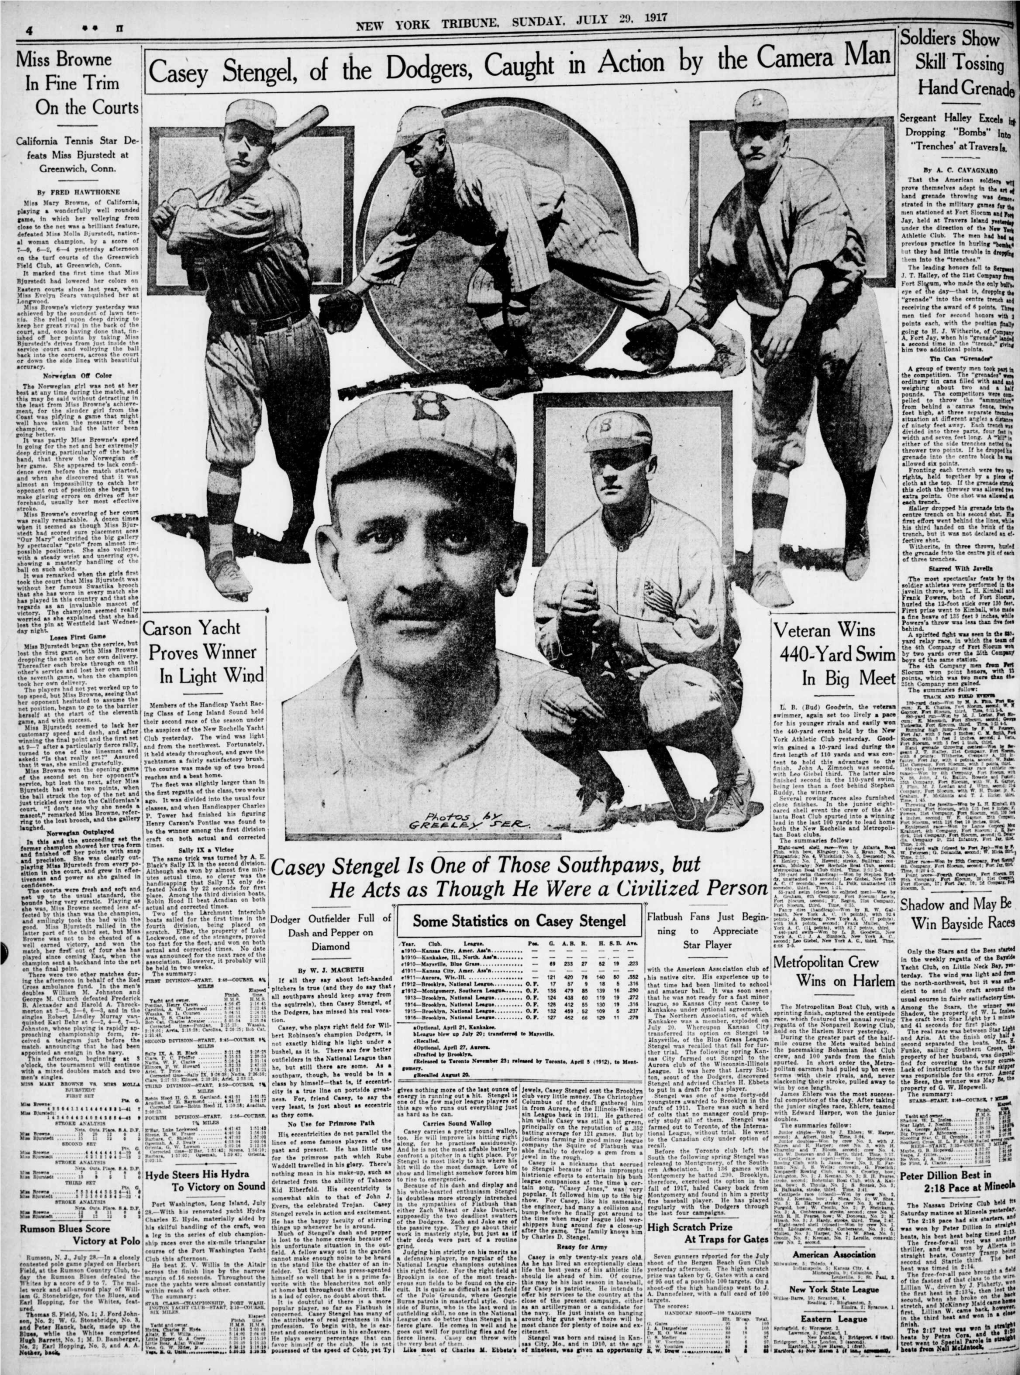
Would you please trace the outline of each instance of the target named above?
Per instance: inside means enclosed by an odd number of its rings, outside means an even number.
[[[865,243],[828,166],[789,153],[789,109],[778,91],[744,92],[730,144],[744,177],[711,226],[700,271],[658,327],[704,329],[737,301],[752,341],[751,595],[777,609],[793,598],[779,568],[790,473],[804,462],[818,404],[822,443],[843,484],[843,572],[867,572],[867,512],[892,429],[885,341],[865,283]],[[641,344],[639,360],[653,351]]]

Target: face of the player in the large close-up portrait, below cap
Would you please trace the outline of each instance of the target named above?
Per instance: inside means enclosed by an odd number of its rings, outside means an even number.
[[[363,657],[393,678],[461,675],[495,649],[495,595],[517,587],[526,529],[443,477],[366,477],[337,490],[319,565],[346,601]],[[522,536],[522,538],[521,538]]]

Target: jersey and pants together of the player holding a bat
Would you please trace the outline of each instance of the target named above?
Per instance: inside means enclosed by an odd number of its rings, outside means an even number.
[[[201,209],[177,210],[166,248],[208,286],[208,461],[246,468],[265,403],[279,466],[315,473],[330,428],[330,358],[309,312],[297,188],[272,166],[236,192],[223,182]]]

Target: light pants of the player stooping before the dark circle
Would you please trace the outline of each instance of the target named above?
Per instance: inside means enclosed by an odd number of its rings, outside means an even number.
[[[669,301],[665,272],[646,272],[601,202],[579,186],[564,188],[557,216],[542,223],[548,265],[580,282],[590,292],[652,318]],[[467,304],[487,315],[513,294],[510,270],[502,246],[489,249],[467,286]]]

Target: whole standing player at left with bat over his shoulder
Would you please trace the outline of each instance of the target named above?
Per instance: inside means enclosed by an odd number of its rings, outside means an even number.
[[[309,111],[301,128],[316,113]],[[302,546],[330,428],[329,348],[309,309],[297,187],[269,165],[275,133],[271,104],[232,100],[221,136],[227,179],[202,206],[194,191],[183,188],[153,214],[153,227],[168,252],[181,256],[188,280],[199,279],[208,289],[205,568],[213,587],[231,601],[247,601],[252,591],[234,553],[234,517],[263,404],[293,498],[278,556],[283,562],[308,562]]]

